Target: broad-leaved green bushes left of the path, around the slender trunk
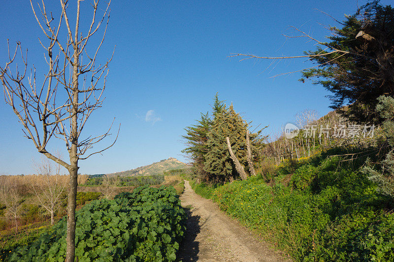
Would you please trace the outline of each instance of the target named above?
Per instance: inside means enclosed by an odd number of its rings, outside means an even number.
[[[138,187],[76,212],[78,261],[174,261],[186,214],[173,188]],[[51,233],[12,253],[10,261],[64,261],[66,218]]]

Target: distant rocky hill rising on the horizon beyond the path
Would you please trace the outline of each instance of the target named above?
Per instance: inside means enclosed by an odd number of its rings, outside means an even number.
[[[134,175],[163,175],[165,171],[172,169],[185,169],[189,166],[176,158],[170,157],[163,159],[160,162],[155,162],[147,166],[134,168],[117,173],[106,174],[108,176],[119,175],[119,176],[134,176]]]

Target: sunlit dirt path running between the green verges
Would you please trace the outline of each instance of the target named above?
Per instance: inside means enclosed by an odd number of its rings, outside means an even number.
[[[187,234],[177,260],[201,262],[285,261],[253,233],[221,211],[217,204],[198,196],[185,180],[180,197],[190,207]]]

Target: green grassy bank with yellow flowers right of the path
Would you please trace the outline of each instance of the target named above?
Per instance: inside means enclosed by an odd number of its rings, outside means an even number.
[[[363,159],[334,151],[284,163],[270,184],[262,176],[191,184],[296,261],[393,261],[393,199],[359,172]]]

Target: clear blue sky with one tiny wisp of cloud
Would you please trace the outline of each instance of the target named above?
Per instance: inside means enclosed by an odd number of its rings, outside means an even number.
[[[73,0],[70,1],[70,5]],[[88,4],[88,0],[84,3]],[[310,66],[305,59],[275,63],[228,58],[230,53],[292,56],[314,49],[302,39],[285,41],[281,33],[300,27],[318,39],[338,20],[353,14],[356,0],[277,1],[113,1],[101,57],[116,45],[103,108],[92,115],[85,134],[100,133],[116,116],[121,131],[115,146],[103,155],[80,161],[87,174],[123,171],[181,155],[184,127],[210,110],[213,96],[233,103],[255,125],[274,132],[297,112],[329,111],[328,93],[320,86],[299,83],[300,73],[273,76]],[[389,4],[388,0],[382,4]],[[58,1],[48,9],[59,9]],[[6,39],[29,48],[29,61],[44,63],[42,38],[28,0],[3,1],[0,9],[0,63],[7,59]],[[90,17],[90,13],[89,13]],[[84,20],[84,19],[83,19]],[[38,78],[39,80],[39,78]],[[34,173],[40,154],[23,137],[11,108],[0,101],[0,174]],[[110,139],[107,140],[110,144]],[[103,144],[102,146],[105,146]],[[63,149],[58,142],[51,148]],[[66,153],[63,153],[66,156]]]

